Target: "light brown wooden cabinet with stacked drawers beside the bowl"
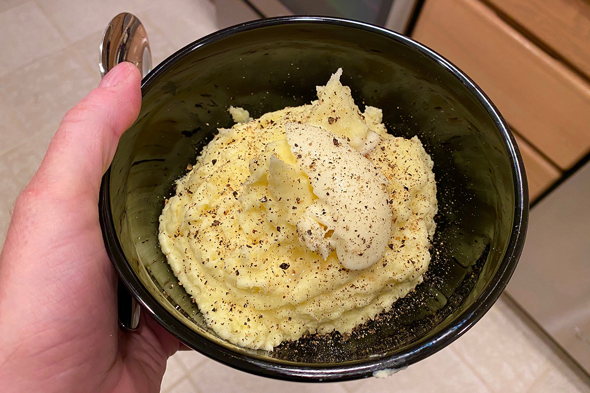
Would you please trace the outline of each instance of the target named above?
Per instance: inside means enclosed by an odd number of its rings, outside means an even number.
[[[494,101],[535,199],[590,151],[589,35],[590,4],[581,0],[427,0],[412,38]]]

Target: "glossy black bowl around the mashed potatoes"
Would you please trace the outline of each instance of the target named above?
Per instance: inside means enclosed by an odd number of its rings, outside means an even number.
[[[434,160],[439,213],[424,282],[378,321],[273,352],[232,345],[209,329],[165,262],[158,217],[174,181],[229,105],[253,117],[309,103],[342,67],[355,101],[383,110],[396,136],[417,135]],[[119,142],[100,194],[107,250],[127,288],[162,326],[203,354],[293,381],[336,381],[399,369],[467,331],[506,286],[528,214],[525,170],[505,121],[453,64],[394,32],[355,21],[290,17],[199,39],[142,83],[142,110]]]

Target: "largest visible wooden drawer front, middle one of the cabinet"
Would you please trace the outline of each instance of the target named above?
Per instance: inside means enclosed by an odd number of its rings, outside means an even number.
[[[413,37],[447,57],[562,169],[590,150],[590,86],[476,0],[428,0]]]

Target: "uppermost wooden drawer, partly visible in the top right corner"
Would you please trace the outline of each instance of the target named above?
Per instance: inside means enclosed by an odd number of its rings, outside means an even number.
[[[487,0],[590,77],[590,3]]]

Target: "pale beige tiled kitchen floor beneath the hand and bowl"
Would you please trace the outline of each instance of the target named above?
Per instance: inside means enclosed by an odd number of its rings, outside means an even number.
[[[235,12],[248,11],[235,2]],[[224,24],[215,21],[215,5],[208,0],[173,0],[166,5],[107,0],[100,6],[87,0],[0,2],[2,242],[14,201],[41,162],[60,118],[98,84],[103,28],[123,11],[136,14],[146,25],[154,64]],[[245,374],[186,351],[169,360],[162,392],[590,392],[587,379],[572,371],[559,350],[538,333],[503,296],[460,339],[389,378],[296,384]]]

